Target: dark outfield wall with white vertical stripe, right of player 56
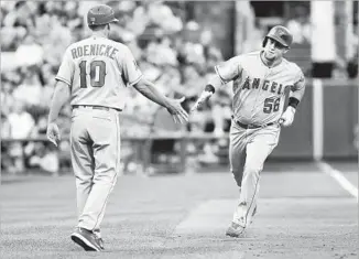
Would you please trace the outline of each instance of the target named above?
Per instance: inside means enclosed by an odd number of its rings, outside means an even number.
[[[308,80],[294,123],[270,159],[357,159],[358,80]]]

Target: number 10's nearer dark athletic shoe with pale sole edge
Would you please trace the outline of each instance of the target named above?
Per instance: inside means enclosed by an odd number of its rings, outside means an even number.
[[[86,251],[101,251],[102,248],[96,235],[85,228],[78,227],[73,234],[74,242],[83,247]]]

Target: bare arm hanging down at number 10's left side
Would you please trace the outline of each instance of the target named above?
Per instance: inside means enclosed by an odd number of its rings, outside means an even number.
[[[53,99],[51,101],[51,107],[50,107],[50,112],[47,118],[47,131],[46,131],[47,139],[51,142],[53,142],[56,147],[61,140],[61,134],[59,134],[58,127],[56,125],[56,120],[59,110],[69,99],[69,96],[70,96],[69,86],[62,80],[57,80]]]

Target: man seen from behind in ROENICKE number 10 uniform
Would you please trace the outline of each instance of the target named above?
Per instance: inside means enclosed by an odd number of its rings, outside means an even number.
[[[108,39],[110,23],[117,22],[108,6],[87,13],[91,36],[68,46],[56,76],[47,138],[61,140],[56,119],[70,97],[70,153],[77,188],[78,225],[72,239],[85,250],[101,251],[100,224],[116,184],[120,160],[119,116],[127,101],[126,88],[133,86],[152,101],[165,107],[175,122],[185,122],[184,98],[171,99],[142,77],[131,51]]]

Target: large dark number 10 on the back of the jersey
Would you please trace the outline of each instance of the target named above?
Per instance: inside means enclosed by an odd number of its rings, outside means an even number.
[[[86,72],[87,61],[81,61],[79,63],[79,84],[80,88],[87,88],[87,75]],[[90,63],[90,86],[91,87],[102,87],[105,85],[106,76],[106,63],[104,61],[93,61]]]

